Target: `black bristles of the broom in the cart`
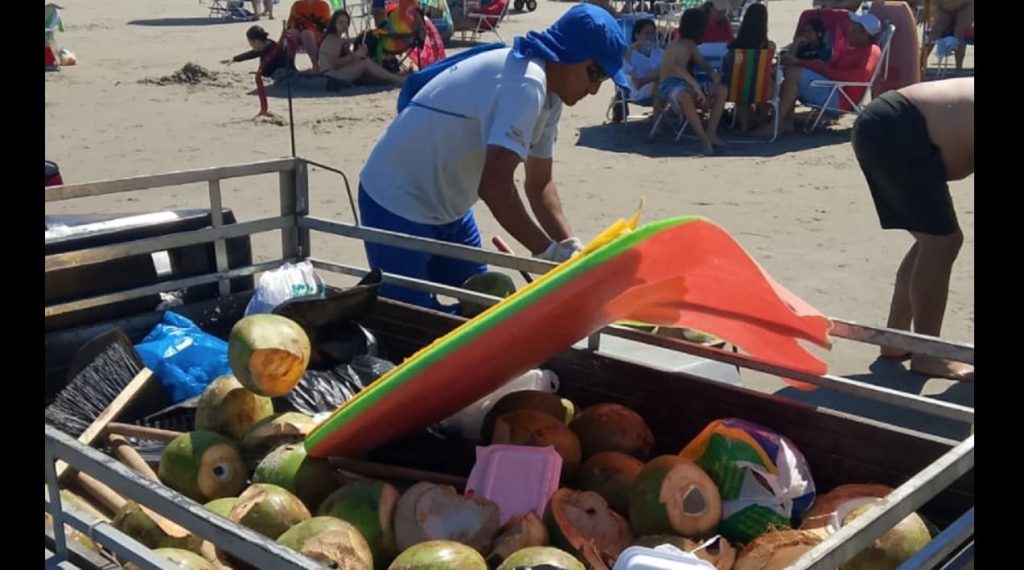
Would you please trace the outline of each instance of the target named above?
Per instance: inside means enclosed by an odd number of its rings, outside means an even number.
[[[142,368],[130,344],[115,342],[96,355],[46,407],[46,423],[79,437]]]

